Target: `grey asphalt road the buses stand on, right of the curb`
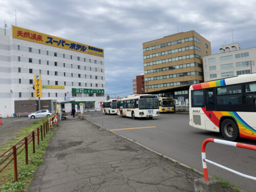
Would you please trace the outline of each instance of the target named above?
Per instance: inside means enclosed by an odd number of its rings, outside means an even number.
[[[86,118],[101,125],[100,112],[86,113]],[[121,118],[103,114],[103,127],[115,130],[124,137],[135,140],[152,150],[203,171],[201,145],[207,138],[223,139],[219,133],[206,132],[188,125],[188,114],[161,114],[150,119]],[[153,126],[153,127],[150,127]],[[116,130],[134,127],[148,127],[130,130]],[[238,142],[256,145],[256,141],[240,139]],[[256,153],[242,148],[208,143],[206,158],[246,175],[256,177]],[[222,168],[207,163],[208,174],[218,175],[231,184],[246,191],[256,191],[256,181],[232,174]]]

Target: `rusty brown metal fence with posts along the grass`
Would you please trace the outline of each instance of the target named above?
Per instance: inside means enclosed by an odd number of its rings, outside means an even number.
[[[36,138],[37,138],[37,145],[39,146],[40,140],[42,141],[43,136],[45,138],[46,134],[49,132],[49,128],[50,128],[50,125],[52,124],[52,121],[54,121],[54,124],[57,123],[56,115],[49,118],[46,122],[42,123],[39,127],[33,130],[27,137],[24,137],[23,139],[19,140],[16,144],[10,147],[9,150],[7,150],[5,153],[0,155],[0,173],[3,172],[3,170],[13,161],[14,181],[18,181],[17,156],[25,150],[26,165],[27,165],[29,163],[28,162],[28,145],[32,142],[33,153],[35,153]],[[1,160],[2,157],[4,158],[3,160]],[[4,165],[4,163],[6,164]]]

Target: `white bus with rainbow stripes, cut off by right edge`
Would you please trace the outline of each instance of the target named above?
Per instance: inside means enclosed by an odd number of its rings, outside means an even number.
[[[256,139],[256,73],[190,86],[189,119],[229,141]]]

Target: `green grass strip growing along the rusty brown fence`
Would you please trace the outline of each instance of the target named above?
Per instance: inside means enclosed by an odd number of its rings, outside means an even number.
[[[24,127],[22,133],[18,134],[15,138],[9,140],[8,144],[0,149],[0,154],[8,150],[11,146],[16,144],[20,139],[28,136],[31,131],[40,126],[43,122],[45,122],[47,118],[40,119],[36,121],[36,124],[32,124],[29,127]],[[4,171],[0,175],[0,191],[27,191],[28,187],[34,177],[34,172],[39,165],[44,164],[45,162],[42,160],[44,157],[46,148],[48,146],[49,140],[52,135],[55,133],[56,127],[53,126],[53,129],[49,129],[48,134],[44,138],[43,141],[40,139],[40,145],[37,145],[37,136],[35,135],[35,153],[33,154],[33,144],[32,142],[28,145],[28,157],[29,164],[26,165],[26,157],[25,150],[17,156],[17,167],[18,167],[18,181],[14,182],[14,171],[13,171],[13,161],[4,169]],[[17,151],[17,153],[20,149]],[[11,150],[12,152],[12,150]],[[11,159],[11,158],[9,158]],[[8,159],[8,160],[9,160]]]

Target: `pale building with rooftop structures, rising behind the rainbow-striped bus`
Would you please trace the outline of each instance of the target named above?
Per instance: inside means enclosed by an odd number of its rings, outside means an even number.
[[[256,48],[242,49],[238,43],[224,45],[220,53],[203,57],[204,81],[256,73]]]

